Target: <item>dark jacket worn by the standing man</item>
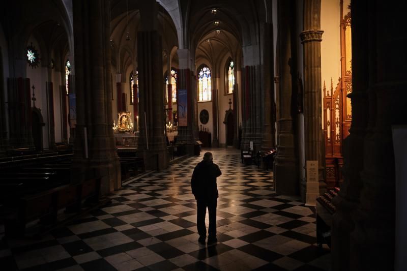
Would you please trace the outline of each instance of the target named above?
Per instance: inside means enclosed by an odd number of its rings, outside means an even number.
[[[197,200],[210,200],[218,198],[216,177],[220,176],[218,165],[211,162],[201,161],[196,165],[191,178],[192,194]]]

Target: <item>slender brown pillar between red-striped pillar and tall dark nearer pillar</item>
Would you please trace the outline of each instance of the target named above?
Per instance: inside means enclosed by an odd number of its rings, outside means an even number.
[[[275,148],[275,125],[273,122],[274,105],[274,82],[271,80],[271,74],[274,74],[273,60],[273,25],[265,23],[264,26],[264,48],[263,51],[263,83],[264,83],[264,129],[263,139],[261,140],[261,149],[270,150]],[[270,49],[269,49],[270,48]]]

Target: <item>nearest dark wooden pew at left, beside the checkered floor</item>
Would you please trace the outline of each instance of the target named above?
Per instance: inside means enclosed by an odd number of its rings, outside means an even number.
[[[57,221],[59,210],[81,212],[85,202],[96,204],[100,195],[100,178],[81,184],[66,185],[20,198],[17,209],[6,219],[6,236],[24,236],[28,222],[40,220],[41,228],[52,228],[64,221]]]

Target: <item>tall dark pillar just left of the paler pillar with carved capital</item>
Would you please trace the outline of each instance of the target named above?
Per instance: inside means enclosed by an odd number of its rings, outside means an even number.
[[[298,158],[295,155],[294,123],[292,117],[292,37],[295,10],[292,1],[279,0],[278,8],[278,90],[277,154],[274,159],[274,182],[278,194],[298,195]],[[295,74],[295,73],[294,73]]]

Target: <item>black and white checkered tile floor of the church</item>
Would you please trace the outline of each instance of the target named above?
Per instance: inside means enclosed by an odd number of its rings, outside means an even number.
[[[223,173],[216,246],[197,242],[190,177],[201,157],[191,157],[131,180],[110,205],[39,241],[0,243],[2,270],[329,270],[314,210],[277,196],[272,172],[242,165],[238,150],[212,152]]]

